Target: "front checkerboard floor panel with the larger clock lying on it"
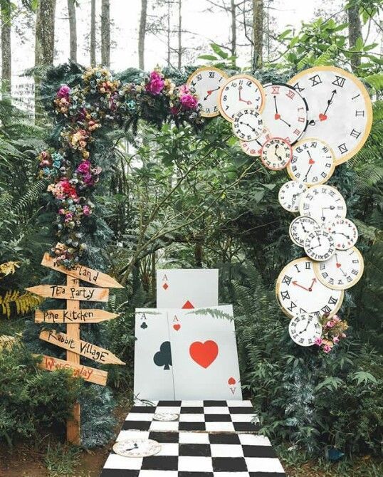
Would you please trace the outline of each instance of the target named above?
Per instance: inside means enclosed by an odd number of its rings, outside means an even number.
[[[100,477],[283,477],[270,441],[255,434],[121,431],[117,441],[154,439],[161,451],[149,457],[114,452]]]

